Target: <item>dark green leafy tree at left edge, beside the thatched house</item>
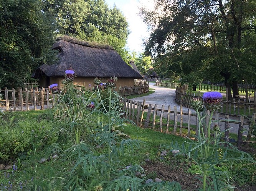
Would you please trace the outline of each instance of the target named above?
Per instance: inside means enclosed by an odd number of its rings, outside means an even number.
[[[2,87],[21,87],[43,63],[55,57],[51,51],[54,30],[40,0],[0,0],[0,76]]]

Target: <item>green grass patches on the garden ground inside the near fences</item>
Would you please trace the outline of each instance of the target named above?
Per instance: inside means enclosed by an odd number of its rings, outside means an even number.
[[[146,118],[146,115],[147,112],[144,112],[144,118]],[[56,126],[58,126],[59,124],[58,121],[53,120],[51,109],[28,112],[5,112],[3,118],[4,120],[8,121],[12,116],[15,116],[15,120],[13,121],[13,123],[17,123],[18,121],[26,119],[41,118],[46,121],[52,121],[53,123],[56,123]],[[152,121],[152,115],[150,121]],[[156,123],[159,123],[159,121],[160,117],[157,116]],[[163,123],[167,123],[167,119],[163,118]],[[134,148],[134,152],[128,152],[127,150],[127,152],[125,152],[125,155],[123,157],[120,157],[120,161],[121,163],[123,163],[123,165],[143,165],[145,163],[144,160],[146,158],[150,158],[152,161],[157,161],[159,160],[159,152],[165,150],[165,146],[170,146],[172,141],[177,141],[178,144],[182,144],[184,141],[188,140],[185,137],[173,135],[173,128],[171,126],[169,126],[170,133],[166,134],[159,132],[159,125],[155,126],[156,131],[154,131],[153,129],[151,129],[151,124],[147,129],[139,128],[130,123],[122,127],[116,127],[116,129],[120,129],[122,132],[126,133],[129,136],[129,138],[138,139],[142,141],[140,143],[139,149]],[[170,121],[170,125],[171,124],[173,124],[173,121]],[[183,125],[187,126],[187,124]],[[195,126],[192,126],[192,128],[195,128]],[[165,132],[165,129],[163,129],[163,131]],[[177,124],[177,132],[179,132],[179,123]],[[186,132],[187,129],[183,129],[184,135],[186,135]],[[233,136],[233,134],[230,134],[231,138],[233,138]],[[104,154],[104,152],[107,149],[104,147],[102,149],[95,149],[95,145],[93,144],[94,141],[90,140],[91,139],[89,136],[85,137],[84,139],[86,143],[91,144],[91,149],[95,153],[99,155]],[[69,140],[67,138],[60,138],[55,146],[46,147],[44,150],[41,150],[40,152],[35,152],[35,155],[32,152],[23,157],[21,155],[21,165],[18,170],[14,171],[13,173],[12,169],[1,172],[0,185],[1,183],[3,183],[3,186],[0,186],[0,190],[4,190],[4,186],[10,186],[9,181],[13,186],[13,190],[15,191],[29,189],[35,190],[35,184],[38,186],[38,189],[41,186],[41,188],[44,188],[45,190],[62,190],[65,181],[62,180],[61,178],[68,178],[71,169],[74,166],[74,161],[67,160],[66,154],[63,152],[68,147],[68,145]],[[51,159],[50,161],[46,161],[45,163],[38,164],[37,161],[40,160],[42,157],[49,157],[49,152],[54,152],[58,154],[58,159]],[[167,161],[167,163],[169,165],[175,166],[182,160],[189,161],[187,157],[179,156],[177,158],[171,157]],[[15,165],[18,165],[18,162],[15,159],[12,159],[11,161],[9,161],[9,163],[11,165],[13,165],[13,163],[15,163]],[[241,165],[239,165],[239,163],[235,163],[235,168],[230,169],[235,176],[239,175],[238,178],[235,177],[236,180],[239,181],[241,184],[251,182],[249,178],[252,175],[252,170],[249,169],[248,171],[239,171],[239,169],[241,169]],[[6,176],[4,175],[4,172],[6,172]],[[10,174],[9,178],[7,178],[8,173]],[[34,182],[31,179],[34,179],[36,181]],[[23,186],[23,189],[21,189],[20,183]]]

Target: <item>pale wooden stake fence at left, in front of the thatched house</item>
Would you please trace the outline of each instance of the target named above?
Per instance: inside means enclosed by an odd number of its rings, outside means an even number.
[[[22,89],[15,90],[0,90],[1,94],[4,94],[5,99],[0,99],[2,104],[5,104],[5,109],[9,110],[30,110],[30,109],[41,109],[43,110],[45,105],[46,108],[50,108],[54,95],[48,88],[35,89]],[[12,96],[11,96],[12,95]],[[38,108],[40,106],[40,108]]]

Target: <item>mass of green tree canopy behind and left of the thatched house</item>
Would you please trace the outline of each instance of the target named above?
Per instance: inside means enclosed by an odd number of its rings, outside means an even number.
[[[128,62],[128,23],[104,0],[0,0],[0,78],[2,87],[20,87],[43,63],[59,35],[111,45]]]

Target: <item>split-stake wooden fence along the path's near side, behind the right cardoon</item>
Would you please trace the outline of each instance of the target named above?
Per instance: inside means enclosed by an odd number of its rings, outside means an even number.
[[[198,127],[199,127],[199,121],[198,117],[195,113],[192,113],[190,109],[188,109],[188,112],[183,112],[182,106],[180,106],[180,110],[177,111],[177,106],[172,107],[168,105],[167,109],[165,108],[165,105],[161,105],[160,108],[157,108],[157,104],[145,104],[144,102],[136,102],[133,100],[129,100],[125,98],[125,105],[122,108],[124,111],[124,114],[122,115],[123,118],[126,118],[127,120],[132,120],[134,123],[139,127],[144,128],[151,128],[160,131],[161,133],[170,133],[175,134],[179,136],[188,136],[191,137],[192,134],[198,135]],[[145,115],[147,112],[147,115]],[[210,116],[210,113],[208,113]],[[159,122],[156,122],[156,118],[160,117]],[[237,139],[233,140],[229,138],[229,131],[225,132],[225,136],[223,136],[222,139],[224,139],[226,142],[237,142],[237,146],[241,147],[242,145],[242,137],[243,133],[241,129],[244,128],[244,125],[250,125],[251,123],[255,122],[256,113],[253,113],[253,117],[250,120],[246,120],[244,116],[239,117],[238,121],[228,121],[230,116],[225,115],[225,120],[219,120],[220,113],[215,112],[215,117],[213,117],[214,123],[211,124],[213,127],[215,124],[219,125],[219,123],[225,123],[225,129],[228,129],[230,127],[230,124],[239,124],[239,128],[237,130]],[[178,120],[179,118],[179,120]],[[186,120],[185,120],[186,118]],[[194,119],[193,119],[194,118]],[[173,119],[173,120],[170,120]],[[191,121],[197,121],[195,125],[196,128],[191,127]],[[210,120],[210,118],[208,118]],[[185,125],[186,124],[186,125]],[[207,124],[207,121],[206,121]],[[251,126],[250,126],[251,127]],[[206,130],[206,129],[205,129]],[[205,131],[207,133],[207,131]],[[251,139],[251,133],[252,129],[248,129],[248,136],[246,140]],[[210,136],[213,136],[211,134]],[[244,141],[246,142],[246,141]],[[246,146],[248,148],[249,144],[246,142]]]

